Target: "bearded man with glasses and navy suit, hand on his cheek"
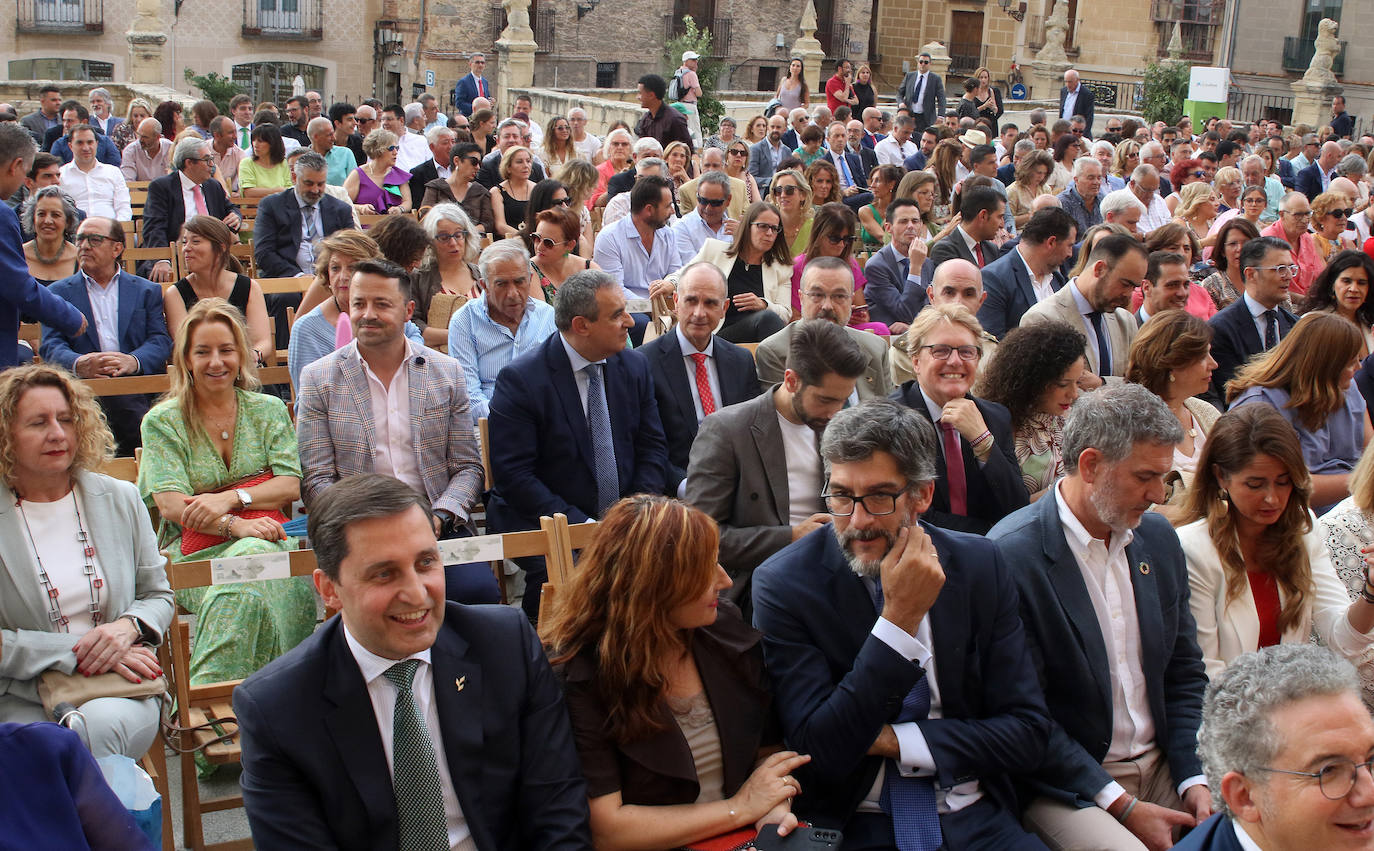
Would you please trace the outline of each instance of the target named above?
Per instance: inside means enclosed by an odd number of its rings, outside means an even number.
[[[820,455],[831,524],[754,573],[783,733],[812,758],[798,813],[845,848],[1041,848],[1009,780],[1048,727],[1015,584],[985,539],[916,520],[934,430],[871,400],[830,421]]]

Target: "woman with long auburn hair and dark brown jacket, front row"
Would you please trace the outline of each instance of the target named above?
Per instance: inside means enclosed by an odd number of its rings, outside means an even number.
[[[598,847],[676,848],[797,825],[791,771],[811,758],[780,749],[763,637],[720,598],[731,580],[719,538],[675,499],[621,499],[540,623]]]

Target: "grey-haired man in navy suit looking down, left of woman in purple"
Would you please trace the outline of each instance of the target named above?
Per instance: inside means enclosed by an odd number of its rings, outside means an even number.
[[[324,191],[328,165],[309,151],[301,154],[291,172],[291,188],[268,195],[258,203],[253,227],[253,260],[262,278],[295,278],[315,274],[315,249],[302,250],[305,223],[302,210],[315,206],[317,239],[353,227],[353,210]]]

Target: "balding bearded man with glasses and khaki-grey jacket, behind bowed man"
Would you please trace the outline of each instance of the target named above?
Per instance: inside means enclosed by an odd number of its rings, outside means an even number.
[[[857,404],[868,399],[886,399],[892,393],[892,375],[888,368],[888,341],[868,331],[851,329],[849,313],[853,312],[855,275],[849,264],[838,257],[816,257],[801,272],[801,318],[826,319],[844,329],[859,349],[868,357],[859,385],[851,396]],[[758,344],[754,363],[758,366],[758,384],[764,390],[783,379],[787,353],[791,351],[791,337],[797,323],[789,323],[783,330]]]

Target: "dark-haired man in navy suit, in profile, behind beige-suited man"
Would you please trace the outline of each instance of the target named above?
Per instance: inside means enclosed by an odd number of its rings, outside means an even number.
[[[1077,239],[1073,216],[1046,208],[1021,228],[1015,247],[982,267],[982,290],[988,298],[978,308],[982,330],[998,340],[1021,324],[1033,305],[1059,291],[1059,265],[1073,254]]]

